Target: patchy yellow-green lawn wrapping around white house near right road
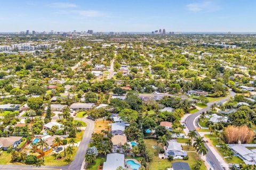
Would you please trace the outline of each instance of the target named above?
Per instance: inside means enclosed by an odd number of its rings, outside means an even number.
[[[173,162],[186,162],[189,164],[190,168],[192,168],[193,164],[197,162],[199,159],[199,156],[196,154],[196,152],[188,152],[188,160],[182,160],[182,159],[176,159],[170,162],[167,159],[160,159],[158,158],[157,151],[153,148],[153,146],[157,145],[157,142],[155,139],[145,139],[146,146],[154,151],[154,158],[153,160],[149,163],[149,169],[156,169],[156,170],[164,170],[166,167],[171,167],[171,163]],[[201,170],[206,170],[206,167],[204,163],[202,162],[202,166],[200,168]]]

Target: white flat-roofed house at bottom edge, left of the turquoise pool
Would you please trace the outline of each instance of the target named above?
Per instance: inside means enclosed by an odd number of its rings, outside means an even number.
[[[103,163],[102,170],[113,170],[117,169],[119,166],[125,168],[124,166],[124,154],[108,154],[106,162]]]

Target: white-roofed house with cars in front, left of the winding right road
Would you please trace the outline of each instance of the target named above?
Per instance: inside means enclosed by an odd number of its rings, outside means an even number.
[[[168,158],[169,156],[173,156],[174,159],[183,159],[183,157],[187,157],[187,151],[182,150],[181,144],[176,140],[169,140],[168,146],[165,147],[164,150],[164,158]]]

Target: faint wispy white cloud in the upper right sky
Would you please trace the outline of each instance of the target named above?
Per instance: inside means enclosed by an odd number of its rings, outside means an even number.
[[[218,11],[220,7],[218,5],[213,4],[210,1],[202,2],[202,3],[191,3],[187,5],[189,11],[192,12],[213,12]]]

